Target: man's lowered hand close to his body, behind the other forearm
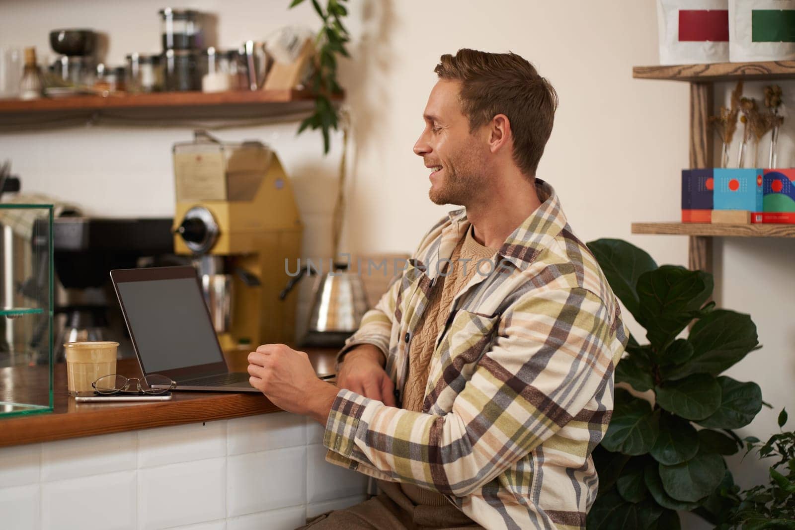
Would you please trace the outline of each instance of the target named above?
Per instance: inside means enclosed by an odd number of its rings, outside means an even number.
[[[395,406],[394,384],[382,367],[384,356],[372,344],[362,344],[345,354],[337,373],[337,386]]]

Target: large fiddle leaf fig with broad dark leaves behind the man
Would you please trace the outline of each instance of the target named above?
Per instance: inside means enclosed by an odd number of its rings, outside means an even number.
[[[611,423],[593,452],[599,495],[587,525],[680,528],[677,510],[704,516],[731,480],[724,456],[743,447],[733,429],[762,408],[758,385],[721,375],[758,349],[756,326],[748,315],[715,309],[709,273],[658,266],[619,239],[588,248],[646,341],[630,335],[615,369]]]

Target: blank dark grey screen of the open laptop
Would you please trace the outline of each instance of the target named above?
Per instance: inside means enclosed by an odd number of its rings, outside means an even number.
[[[147,373],[223,362],[195,278],[120,281],[117,288]]]

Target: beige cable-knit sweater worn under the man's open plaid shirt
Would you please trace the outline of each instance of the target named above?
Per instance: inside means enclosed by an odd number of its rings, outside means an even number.
[[[413,412],[422,412],[425,400],[425,386],[430,373],[429,363],[436,340],[444,331],[444,323],[448,319],[452,301],[477,273],[478,260],[489,259],[494,262],[497,250],[481,245],[472,237],[472,228],[453,250],[450,262],[445,263],[444,274],[440,275],[429,297],[428,308],[420,322],[411,342],[409,355],[409,376],[403,388],[403,408]],[[470,261],[465,261],[465,260]],[[481,272],[489,273],[493,265],[481,264]],[[417,505],[444,506],[448,501],[441,493],[421,488],[412,484],[401,484],[401,489]]]

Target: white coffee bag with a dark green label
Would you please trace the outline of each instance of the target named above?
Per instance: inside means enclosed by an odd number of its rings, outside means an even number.
[[[729,60],[795,59],[795,0],[729,0]]]

